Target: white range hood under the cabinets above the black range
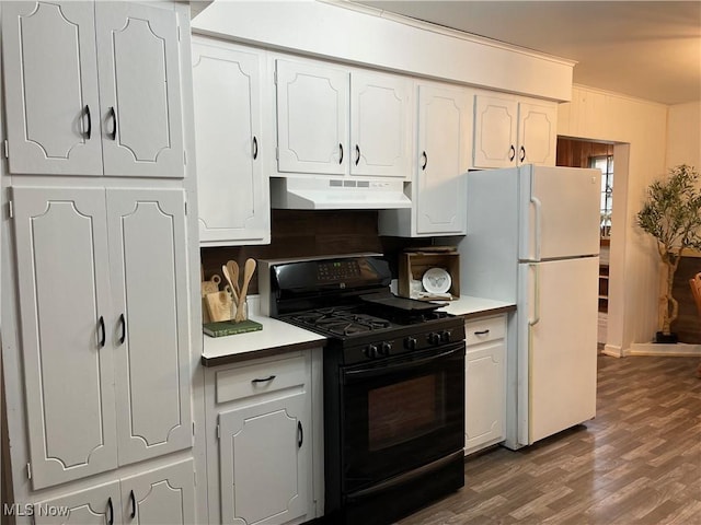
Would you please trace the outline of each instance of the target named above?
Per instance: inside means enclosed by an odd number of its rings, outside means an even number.
[[[273,208],[288,210],[386,210],[411,208],[403,180],[336,177],[271,177]]]

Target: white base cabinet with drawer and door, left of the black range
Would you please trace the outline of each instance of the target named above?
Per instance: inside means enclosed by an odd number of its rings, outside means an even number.
[[[208,418],[216,423],[208,424],[216,434],[207,450],[210,523],[317,517],[314,468],[322,448],[312,418],[311,351],[218,366],[206,375]]]

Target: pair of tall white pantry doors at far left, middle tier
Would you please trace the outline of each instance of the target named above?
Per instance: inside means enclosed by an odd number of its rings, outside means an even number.
[[[12,199],[34,489],[192,446],[184,192]]]

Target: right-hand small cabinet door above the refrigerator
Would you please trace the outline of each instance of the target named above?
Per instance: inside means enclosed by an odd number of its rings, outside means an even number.
[[[520,103],[518,112],[519,164],[554,166],[558,153],[558,106]]]

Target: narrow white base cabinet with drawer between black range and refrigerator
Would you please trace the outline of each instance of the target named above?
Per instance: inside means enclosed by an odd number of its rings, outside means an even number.
[[[464,453],[504,441],[506,314],[466,323]]]

